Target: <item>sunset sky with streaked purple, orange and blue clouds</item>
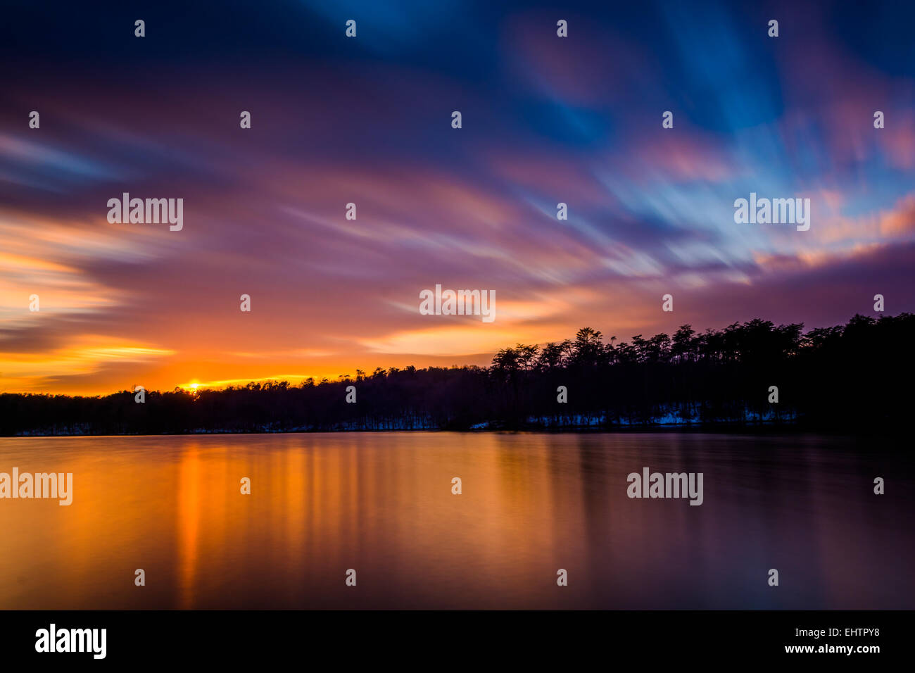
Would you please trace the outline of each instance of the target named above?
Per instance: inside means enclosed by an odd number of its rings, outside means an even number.
[[[915,310],[911,3],[24,5],[0,27],[0,392]],[[183,228],[109,223],[124,192],[182,198]],[[736,223],[751,192],[810,199],[810,229]],[[421,314],[436,284],[494,291],[495,320]]]

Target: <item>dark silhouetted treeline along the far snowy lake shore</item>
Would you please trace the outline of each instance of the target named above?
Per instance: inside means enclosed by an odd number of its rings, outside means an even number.
[[[489,367],[393,367],[302,385],[147,391],[143,404],[132,391],[4,394],[0,434],[760,423],[879,431],[908,421],[913,343],[910,313],[856,315],[806,333],[802,324],[767,320],[703,332],[684,325],[673,336],[629,342],[586,327],[574,340],[504,348]]]

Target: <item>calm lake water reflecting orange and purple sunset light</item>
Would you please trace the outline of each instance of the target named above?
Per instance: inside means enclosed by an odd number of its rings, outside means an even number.
[[[911,609],[915,483],[891,449],[717,434],[3,439],[0,472],[73,472],[74,496],[0,500],[0,608]],[[703,472],[705,504],[628,498],[644,466]]]

